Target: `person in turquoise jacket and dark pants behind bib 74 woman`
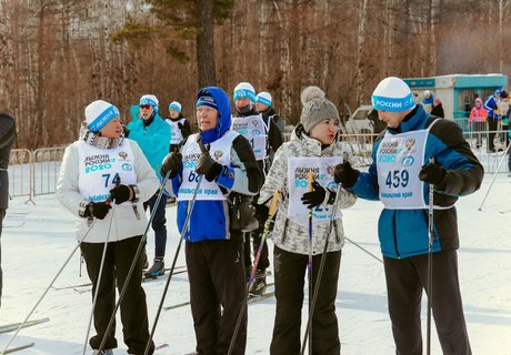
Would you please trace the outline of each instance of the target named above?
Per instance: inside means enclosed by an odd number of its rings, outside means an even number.
[[[158,99],[153,94],[146,94],[140,98],[140,119],[132,120],[127,129],[124,130],[126,136],[139,143],[143,154],[151,164],[154,173],[160,180],[163,176],[160,175],[161,162],[163,158],[169,153],[171,136],[170,125],[160,116],[158,113]],[[154,193],[151,199],[144,202],[144,209],[149,206],[150,212],[154,212],[151,227],[154,231],[154,262],[152,266],[146,272],[146,277],[157,277],[163,275],[164,268],[164,256],[167,247],[167,219],[166,219],[166,205],[169,194],[163,191],[160,203],[156,205],[158,194]],[[143,253],[146,255],[146,251]],[[144,263],[144,268],[149,266]]]

